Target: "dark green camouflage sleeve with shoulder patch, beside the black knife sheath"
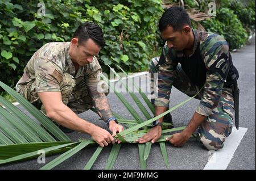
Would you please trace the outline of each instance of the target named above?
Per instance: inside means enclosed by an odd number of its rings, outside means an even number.
[[[201,43],[201,53],[208,69],[204,84],[204,94],[196,112],[209,116],[220,101],[222,89],[229,72],[228,43],[219,35],[212,35]]]

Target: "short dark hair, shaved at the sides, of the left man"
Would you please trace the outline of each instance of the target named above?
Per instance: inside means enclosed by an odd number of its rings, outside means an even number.
[[[79,44],[84,43],[88,39],[92,39],[100,47],[104,47],[105,40],[101,28],[92,22],[81,24],[75,31],[73,38],[79,39]]]

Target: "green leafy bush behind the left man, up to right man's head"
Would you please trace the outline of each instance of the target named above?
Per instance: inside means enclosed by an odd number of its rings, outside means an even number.
[[[1,81],[11,87],[37,49],[51,41],[70,41],[79,24],[87,20],[105,33],[106,47],[99,55],[105,64],[145,70],[158,52],[160,0],[44,1],[45,15],[38,13],[39,2],[0,0]]]

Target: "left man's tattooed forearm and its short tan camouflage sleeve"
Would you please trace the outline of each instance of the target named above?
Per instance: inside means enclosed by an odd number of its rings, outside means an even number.
[[[97,114],[106,122],[112,117],[109,101],[106,98],[104,88],[105,83],[101,80],[102,69],[96,57],[91,64],[88,64],[85,75],[85,83],[89,89]]]

